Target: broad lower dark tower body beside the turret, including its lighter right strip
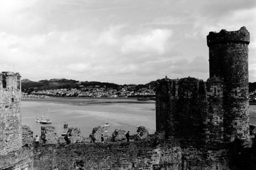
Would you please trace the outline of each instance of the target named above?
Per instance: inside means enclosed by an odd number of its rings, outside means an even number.
[[[189,77],[173,82],[168,80],[166,87],[166,78],[157,80],[156,115],[162,117],[167,136],[181,139],[184,146],[223,142],[223,81]]]

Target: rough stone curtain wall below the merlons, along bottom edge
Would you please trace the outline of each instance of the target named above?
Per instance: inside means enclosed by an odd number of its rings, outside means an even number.
[[[156,147],[153,141],[44,145],[34,154],[34,169],[178,169],[182,158],[179,146]]]

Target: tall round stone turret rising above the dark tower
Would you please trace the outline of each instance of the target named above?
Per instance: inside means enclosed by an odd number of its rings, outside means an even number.
[[[248,143],[248,44],[250,33],[245,27],[239,31],[210,32],[209,46],[210,77],[223,78],[224,138],[234,141],[243,139]]]

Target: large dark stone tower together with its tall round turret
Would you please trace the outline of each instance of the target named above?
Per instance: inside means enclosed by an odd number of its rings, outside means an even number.
[[[250,33],[210,32],[210,78],[157,80],[156,131],[189,145],[250,140],[248,44]]]

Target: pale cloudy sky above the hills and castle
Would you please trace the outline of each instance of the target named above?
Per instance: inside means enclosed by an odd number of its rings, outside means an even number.
[[[207,34],[243,25],[256,81],[255,0],[1,0],[0,67],[34,81],[206,80]]]

